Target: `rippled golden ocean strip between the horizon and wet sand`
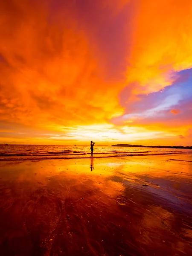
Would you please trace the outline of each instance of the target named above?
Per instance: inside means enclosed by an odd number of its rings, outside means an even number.
[[[94,146],[93,157],[192,153],[192,149]],[[0,161],[89,158],[90,145],[0,145]]]

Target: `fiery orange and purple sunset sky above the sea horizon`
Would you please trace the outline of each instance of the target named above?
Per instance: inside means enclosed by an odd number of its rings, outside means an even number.
[[[191,28],[191,0],[0,0],[0,144],[192,145]]]

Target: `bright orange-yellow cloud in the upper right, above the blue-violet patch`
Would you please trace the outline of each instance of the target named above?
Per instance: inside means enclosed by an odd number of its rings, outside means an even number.
[[[134,17],[126,84],[132,99],[171,85],[174,71],[192,67],[192,2],[141,0]]]

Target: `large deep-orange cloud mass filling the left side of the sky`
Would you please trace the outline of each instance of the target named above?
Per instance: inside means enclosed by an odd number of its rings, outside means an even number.
[[[122,113],[118,83],[102,79],[73,7],[65,1],[52,12],[46,1],[0,2],[1,120],[56,129]]]

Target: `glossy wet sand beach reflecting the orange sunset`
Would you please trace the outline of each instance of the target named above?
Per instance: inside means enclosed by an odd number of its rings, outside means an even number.
[[[192,255],[192,154],[0,162],[0,255]]]

